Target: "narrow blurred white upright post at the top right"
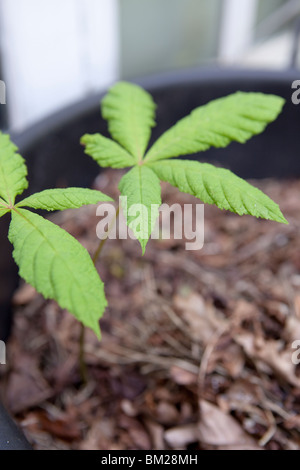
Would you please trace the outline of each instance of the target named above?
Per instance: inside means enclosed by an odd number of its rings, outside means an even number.
[[[258,0],[224,0],[219,58],[235,61],[251,45]]]

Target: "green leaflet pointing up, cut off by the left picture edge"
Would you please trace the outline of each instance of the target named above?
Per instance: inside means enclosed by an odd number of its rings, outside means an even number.
[[[11,205],[28,187],[25,161],[17,150],[9,135],[0,132],[0,196]]]

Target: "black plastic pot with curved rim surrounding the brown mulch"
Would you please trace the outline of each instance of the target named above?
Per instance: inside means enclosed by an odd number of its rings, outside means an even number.
[[[246,145],[231,144],[211,149],[191,158],[218,163],[244,178],[300,176],[300,106],[292,104],[292,82],[296,71],[262,72],[249,70],[192,69],[138,80],[158,105],[153,140],[193,108],[237,90],[280,95],[287,100],[284,112],[260,136]],[[98,166],[84,155],[79,145],[85,133],[107,134],[100,118],[102,94],[59,112],[13,139],[29,167],[30,192],[49,187],[89,186]],[[11,328],[10,300],[18,282],[16,266],[7,241],[9,218],[0,219],[0,339]],[[0,423],[3,422],[0,408]],[[1,428],[0,428],[1,429]],[[16,439],[18,436],[16,434]],[[0,433],[0,449],[5,437]]]

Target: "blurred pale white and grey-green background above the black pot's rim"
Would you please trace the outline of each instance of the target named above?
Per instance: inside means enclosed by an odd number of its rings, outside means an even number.
[[[299,16],[299,0],[0,0],[0,127],[21,131],[120,78],[287,69]]]

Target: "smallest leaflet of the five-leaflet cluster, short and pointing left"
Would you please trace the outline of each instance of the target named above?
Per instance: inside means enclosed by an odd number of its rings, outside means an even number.
[[[81,138],[85,153],[103,168],[127,168],[136,163],[136,159],[123,147],[101,134],[86,134]]]

